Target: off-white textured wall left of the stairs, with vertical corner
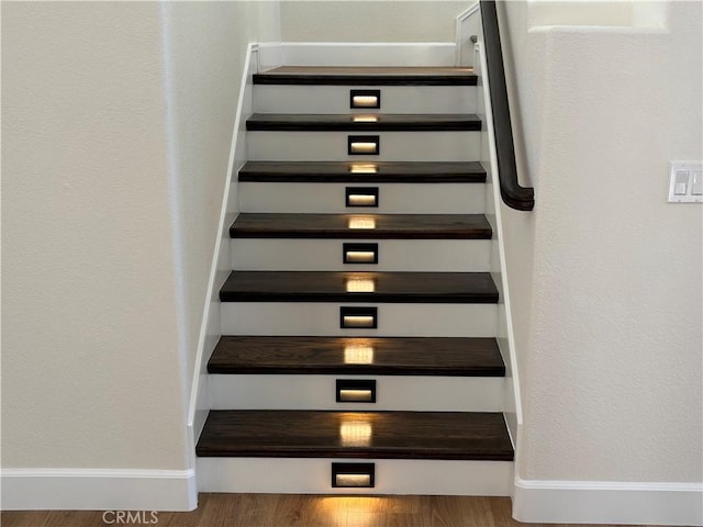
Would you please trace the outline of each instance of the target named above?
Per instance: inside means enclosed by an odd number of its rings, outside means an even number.
[[[188,467],[246,45],[277,10],[3,3],[3,468]]]

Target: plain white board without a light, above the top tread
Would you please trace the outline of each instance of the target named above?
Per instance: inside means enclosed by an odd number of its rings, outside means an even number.
[[[261,43],[259,64],[287,66],[454,66],[454,42],[282,42]]]

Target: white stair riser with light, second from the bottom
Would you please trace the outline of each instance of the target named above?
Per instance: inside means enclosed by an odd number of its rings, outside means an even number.
[[[376,403],[337,403],[337,379],[375,379]],[[500,377],[211,374],[212,410],[502,412]]]

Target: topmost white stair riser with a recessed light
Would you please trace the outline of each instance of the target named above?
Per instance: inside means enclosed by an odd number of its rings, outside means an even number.
[[[380,109],[349,108],[352,90],[380,90]],[[476,113],[476,86],[268,86],[254,88],[260,113]]]

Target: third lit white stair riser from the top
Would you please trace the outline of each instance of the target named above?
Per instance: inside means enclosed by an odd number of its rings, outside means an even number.
[[[347,187],[377,187],[379,206],[346,206]],[[239,183],[242,212],[481,214],[484,200],[480,183]]]

